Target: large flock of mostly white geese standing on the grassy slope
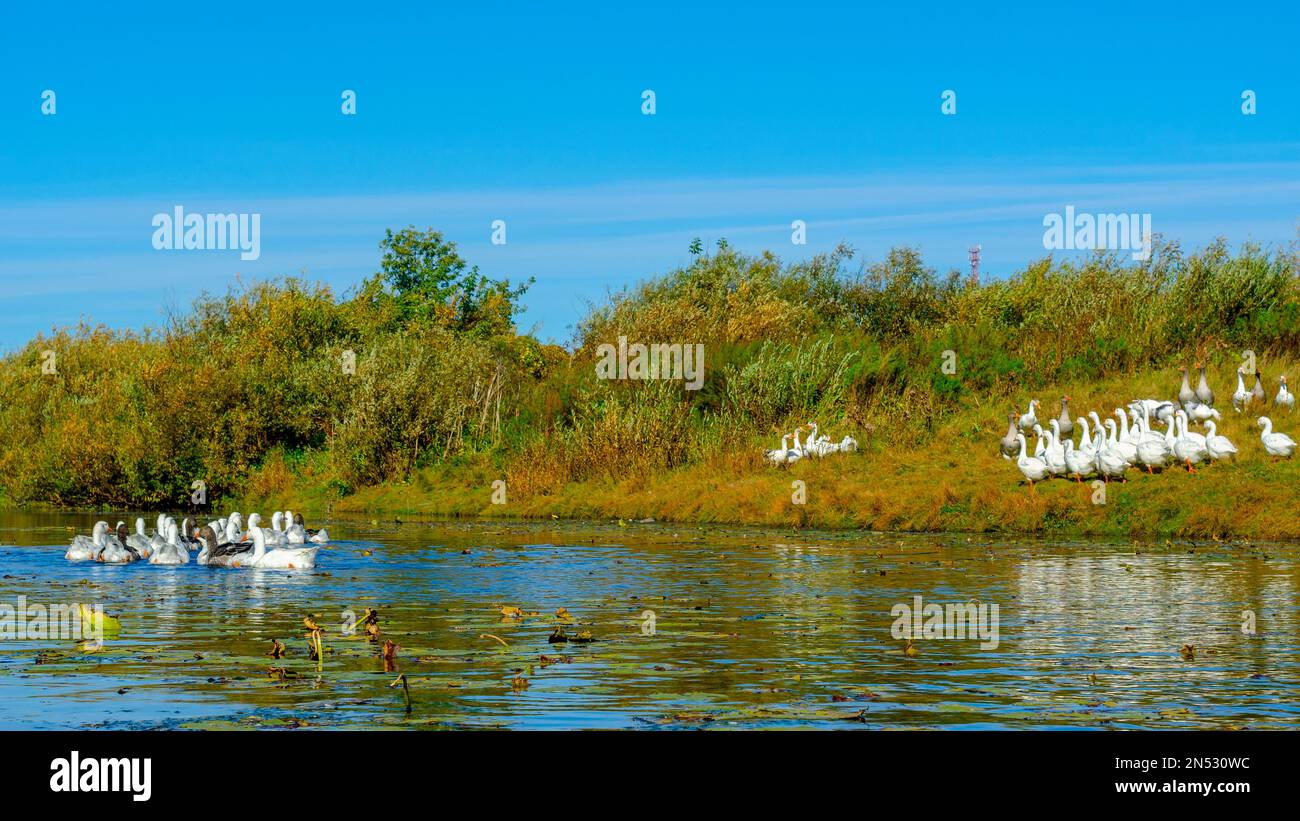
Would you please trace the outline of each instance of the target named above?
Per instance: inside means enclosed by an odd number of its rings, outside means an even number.
[[[1089,410],[1087,417],[1071,420],[1070,398],[1062,396],[1060,417],[1050,420],[1049,429],[1044,430],[1037,418],[1039,401],[1032,399],[1027,412],[1013,412],[1008,417],[1006,435],[1001,439],[1002,457],[1015,459],[1031,488],[1035,482],[1052,477],[1067,477],[1078,482],[1093,477],[1106,482],[1123,479],[1130,468],[1154,473],[1156,468],[1182,464],[1195,473],[1197,464],[1232,459],[1238,448],[1227,436],[1218,434],[1214,422],[1221,417],[1214,409],[1214,391],[1205,381],[1205,366],[1199,364],[1197,368],[1201,378],[1196,390],[1187,381],[1187,368],[1179,368],[1183,372],[1183,386],[1176,404],[1158,399],[1135,399],[1128,403],[1127,413],[1124,408],[1115,408],[1115,418],[1105,422],[1096,410]],[[1244,413],[1253,405],[1262,407],[1266,399],[1258,372],[1254,374],[1253,390],[1247,390],[1245,374],[1236,372],[1232,408],[1238,413]],[[1287,390],[1287,378],[1282,377],[1273,399],[1274,407],[1290,413],[1295,401],[1295,396]],[[1204,425],[1206,433],[1192,433],[1188,429],[1191,421]],[[1080,429],[1078,444],[1070,438],[1076,423]],[[1153,430],[1153,423],[1164,423],[1165,430]],[[1280,459],[1296,452],[1296,443],[1291,436],[1274,433],[1273,420],[1261,416],[1257,425],[1264,431],[1260,442],[1268,455]],[[1037,434],[1032,456],[1028,455],[1024,440],[1024,433],[1031,430]]]

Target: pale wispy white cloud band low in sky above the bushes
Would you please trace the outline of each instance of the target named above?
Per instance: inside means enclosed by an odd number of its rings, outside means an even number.
[[[562,188],[264,196],[161,192],[121,199],[0,200],[0,297],[27,303],[0,346],[39,327],[94,314],[139,326],[165,295],[188,301],[246,279],[306,272],[343,290],[377,265],[386,227],[434,226],[456,239],[485,270],[537,275],[525,325],[563,335],[589,299],[686,259],[692,236],[727,236],[788,257],[846,240],[866,255],[922,247],[936,266],[961,266],[980,242],[992,272],[1043,255],[1041,220],[1079,209],[1149,212],[1157,233],[1201,244],[1288,242],[1296,236],[1300,162],[1000,166],[872,177],[649,179]],[[155,213],[261,213],[261,259],[237,252],[160,252],[151,246]],[[506,220],[508,244],[489,243],[490,222]],[[805,220],[809,244],[789,244],[792,220]],[[112,299],[107,299],[110,295]],[[116,308],[107,308],[114,305]],[[131,309],[131,307],[136,309]],[[104,307],[101,309],[101,307]],[[39,325],[32,325],[38,322]]]

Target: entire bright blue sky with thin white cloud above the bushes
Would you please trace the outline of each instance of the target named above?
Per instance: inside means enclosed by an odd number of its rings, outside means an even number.
[[[1184,247],[1296,239],[1294,4],[266,5],[6,10],[0,351],[157,323],[237,275],[344,291],[408,223],[536,277],[523,325],[559,342],[696,235],[940,269],[980,243],[993,277],[1044,256],[1066,205],[1150,213]],[[176,205],[260,213],[260,259],[156,251]]]

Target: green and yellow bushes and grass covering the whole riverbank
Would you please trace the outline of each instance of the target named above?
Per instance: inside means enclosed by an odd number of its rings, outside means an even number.
[[[5,356],[0,498],[176,508],[200,481],[222,505],[316,513],[1300,537],[1300,468],[1269,460],[1228,404],[1245,351],[1270,398],[1300,377],[1295,248],[1157,243],[1145,261],[1049,257],[972,284],[910,248],[783,262],[696,246],[594,307],[567,348],[517,331],[526,283],[481,274],[441,235],[390,231],[381,252],[346,295],[237,284],[157,329],[82,325]],[[620,336],[702,344],[702,388],[598,379],[599,346]],[[1031,492],[997,456],[1031,396],[1044,418],[1062,394],[1105,416],[1173,399],[1196,361],[1238,464],[1132,473],[1095,504],[1088,485]],[[809,420],[861,451],[764,466]]]

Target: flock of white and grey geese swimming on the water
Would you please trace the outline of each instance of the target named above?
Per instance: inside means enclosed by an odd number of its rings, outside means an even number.
[[[248,516],[247,530],[243,517],[235,512],[228,517],[195,527],[188,516],[177,524],[164,513],[150,537],[144,520],[135,520],[135,533],[127,533],[126,522],[117,522],[112,531],[108,522],[95,524],[91,535],[75,535],[64,555],[69,561],[103,561],[130,564],[147,561],[156,565],[182,565],[190,562],[190,551],[198,548],[195,564],[221,568],[303,569],[316,566],[316,551],[329,542],[329,534],[307,530],[303,517],[292,512],[276,512],[270,527],[261,527],[261,516]]]

